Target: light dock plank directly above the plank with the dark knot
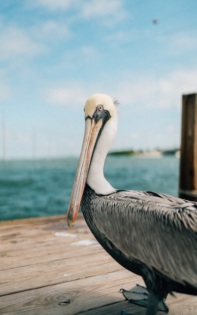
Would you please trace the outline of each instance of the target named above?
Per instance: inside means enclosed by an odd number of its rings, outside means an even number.
[[[40,263],[0,272],[0,295],[60,284],[91,275],[102,275],[123,268],[105,253],[48,263]],[[23,277],[21,277],[23,275]]]

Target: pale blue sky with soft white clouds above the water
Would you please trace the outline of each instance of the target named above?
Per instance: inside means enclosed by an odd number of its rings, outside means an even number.
[[[7,158],[78,155],[95,93],[120,102],[112,150],[180,146],[182,94],[197,92],[196,0],[1,1],[0,47]],[[1,127],[0,140],[1,158]]]

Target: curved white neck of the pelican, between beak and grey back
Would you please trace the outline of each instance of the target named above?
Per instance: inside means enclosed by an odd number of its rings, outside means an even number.
[[[98,194],[116,191],[104,177],[104,161],[117,132],[117,115],[115,114],[104,126],[89,168],[87,183]]]

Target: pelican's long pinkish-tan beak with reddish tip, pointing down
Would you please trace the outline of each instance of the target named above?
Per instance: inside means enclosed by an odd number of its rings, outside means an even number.
[[[81,155],[67,211],[67,225],[70,228],[73,227],[73,222],[75,221],[79,211],[93,150],[101,126],[102,119],[96,123],[94,119],[91,119],[90,117],[86,118]]]

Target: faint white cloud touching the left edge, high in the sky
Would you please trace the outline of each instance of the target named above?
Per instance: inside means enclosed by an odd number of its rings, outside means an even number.
[[[47,20],[29,28],[0,24],[0,60],[17,62],[18,57],[32,58],[50,51],[50,42],[65,41],[72,33],[64,23]]]

